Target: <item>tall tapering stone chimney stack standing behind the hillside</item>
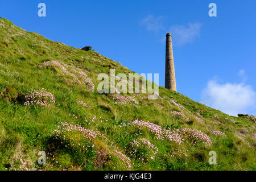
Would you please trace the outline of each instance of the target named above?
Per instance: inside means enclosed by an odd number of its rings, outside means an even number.
[[[174,70],[174,53],[172,52],[172,35],[166,34],[166,83],[165,87],[177,91]]]

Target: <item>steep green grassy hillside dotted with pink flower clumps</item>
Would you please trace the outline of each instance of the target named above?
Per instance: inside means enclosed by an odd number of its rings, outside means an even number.
[[[99,73],[133,73],[0,19],[1,170],[255,170],[254,116],[159,88],[100,94]],[[39,151],[47,154],[38,164]],[[216,151],[217,164],[208,163]]]

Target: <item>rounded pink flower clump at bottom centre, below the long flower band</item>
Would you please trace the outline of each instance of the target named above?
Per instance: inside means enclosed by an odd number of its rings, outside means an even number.
[[[151,159],[155,159],[157,154],[158,148],[147,139],[140,138],[131,142],[131,156],[142,162],[148,162]]]

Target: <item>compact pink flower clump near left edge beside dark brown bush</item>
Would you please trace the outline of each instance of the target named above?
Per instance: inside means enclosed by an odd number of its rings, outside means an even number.
[[[46,91],[42,88],[41,90],[31,90],[25,97],[24,105],[41,105],[44,107],[49,107],[50,104],[55,103],[55,97],[52,93]]]

